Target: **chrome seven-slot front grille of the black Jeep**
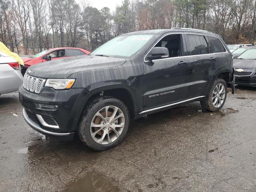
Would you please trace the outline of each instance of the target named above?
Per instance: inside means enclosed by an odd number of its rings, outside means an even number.
[[[30,92],[40,93],[42,87],[44,86],[44,82],[45,79],[32,77],[25,74],[23,78],[23,87]]]

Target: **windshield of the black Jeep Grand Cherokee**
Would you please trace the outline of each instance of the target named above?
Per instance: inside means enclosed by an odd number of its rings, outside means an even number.
[[[142,48],[152,36],[153,35],[118,36],[94,50],[90,55],[130,57]]]

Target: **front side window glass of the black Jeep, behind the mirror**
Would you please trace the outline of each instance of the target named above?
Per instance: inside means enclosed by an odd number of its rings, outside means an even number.
[[[162,38],[155,47],[166,47],[169,58],[183,56],[181,34],[170,34]]]

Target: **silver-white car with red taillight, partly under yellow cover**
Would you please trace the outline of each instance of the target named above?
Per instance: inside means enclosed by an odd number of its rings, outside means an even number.
[[[20,64],[0,52],[0,95],[17,91],[23,82]]]

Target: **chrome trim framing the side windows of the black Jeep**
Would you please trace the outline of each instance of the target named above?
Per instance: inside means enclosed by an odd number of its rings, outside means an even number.
[[[168,35],[172,35],[172,34],[190,34],[190,35],[202,35],[202,36],[210,36],[210,37],[214,37],[214,38],[218,38],[212,35],[206,35],[206,34],[196,34],[196,33],[189,33],[189,32],[181,32],[181,33],[168,33],[166,35],[164,35],[162,38],[160,38],[160,40],[162,40],[164,37],[168,36]],[[160,42],[160,40],[158,40],[156,42],[156,44],[158,44],[158,42]],[[220,40],[220,38],[218,38],[218,40],[222,43],[222,41]],[[150,62],[148,60],[146,60],[146,56],[148,55],[148,53],[156,46],[156,44],[154,44],[154,46],[152,46],[152,48],[147,52],[147,54],[144,56],[144,62]],[[187,55],[187,56],[180,56],[180,57],[170,57],[170,58],[164,58],[164,59],[155,59],[152,61],[160,61],[160,60],[166,60],[166,59],[176,59],[176,58],[186,58],[186,57],[194,57],[194,56],[201,56],[201,55],[212,55],[212,54],[224,54],[224,53],[228,53],[228,50],[226,49],[226,47],[224,46],[224,44],[222,43],[223,47],[225,48],[226,52],[220,52],[220,53],[207,53],[207,54],[200,54],[200,55]]]

